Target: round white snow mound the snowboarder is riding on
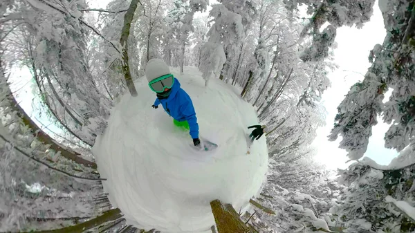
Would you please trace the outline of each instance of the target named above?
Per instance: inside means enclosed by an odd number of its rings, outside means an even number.
[[[221,80],[208,87],[196,68],[175,77],[192,97],[203,138],[216,142],[214,151],[195,151],[188,132],[151,108],[156,95],[147,80],[136,82],[137,97],[124,95],[113,108],[109,124],[98,136],[93,154],[104,189],[127,223],[163,233],[210,232],[214,225],[210,201],[250,208],[259,195],[268,167],[265,137],[247,154],[247,129],[258,124],[255,109],[239,91]]]

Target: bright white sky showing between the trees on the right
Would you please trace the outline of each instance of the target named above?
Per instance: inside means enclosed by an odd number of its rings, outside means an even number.
[[[365,24],[362,29],[343,27],[339,28],[335,41],[338,48],[335,49],[335,63],[340,68],[331,73],[331,88],[327,90],[322,101],[326,107],[326,127],[317,131],[317,138],[313,145],[317,147],[316,159],[330,169],[346,168],[344,162],[348,160],[346,151],[339,149],[340,137],[335,142],[329,142],[327,136],[334,124],[334,117],[337,114],[337,106],[342,102],[351,85],[362,80],[370,64],[368,61],[369,51],[375,44],[382,44],[386,31],[383,28],[382,14],[378,8],[378,1],[374,6],[374,15],[371,21]],[[360,74],[361,75],[360,75]],[[385,97],[385,99],[387,99]],[[378,118],[378,124],[373,128],[372,136],[369,139],[369,146],[365,156],[375,160],[380,165],[388,165],[392,158],[398,153],[395,150],[384,147],[383,137],[389,126]]]

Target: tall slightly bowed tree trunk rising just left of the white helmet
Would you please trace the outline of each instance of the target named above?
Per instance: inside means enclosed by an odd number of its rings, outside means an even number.
[[[134,86],[133,79],[131,78],[131,72],[128,64],[128,37],[129,30],[131,28],[131,21],[133,21],[134,12],[136,12],[138,2],[140,0],[132,0],[127,12],[124,15],[124,26],[121,32],[121,46],[122,46],[122,73],[124,73],[125,82],[131,96],[137,96],[136,86]],[[148,54],[147,54],[148,57]]]

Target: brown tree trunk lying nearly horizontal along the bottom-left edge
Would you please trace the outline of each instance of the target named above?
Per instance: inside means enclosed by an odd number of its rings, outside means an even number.
[[[113,221],[118,218],[122,218],[120,209],[111,209],[107,212],[104,212],[104,214],[102,214],[101,216],[93,218],[84,223],[80,223],[77,225],[73,225],[71,227],[64,227],[64,228],[56,229],[56,230],[46,230],[46,231],[33,232],[33,233],[81,233],[81,232],[86,232],[87,230],[92,229],[94,227],[98,227],[102,223],[107,223],[108,221]]]

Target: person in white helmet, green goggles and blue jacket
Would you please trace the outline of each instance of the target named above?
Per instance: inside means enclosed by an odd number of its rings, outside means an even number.
[[[157,95],[152,105],[154,109],[161,104],[165,112],[178,127],[190,130],[195,147],[201,148],[199,140],[199,124],[190,96],[180,86],[180,82],[170,73],[169,66],[162,59],[150,59],[145,68],[151,91]]]

